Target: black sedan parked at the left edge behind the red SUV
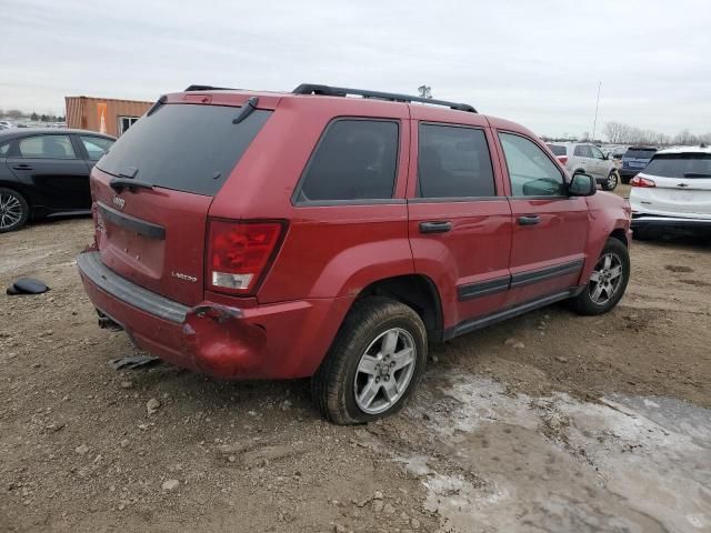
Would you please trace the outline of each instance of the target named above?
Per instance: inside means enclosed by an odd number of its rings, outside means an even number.
[[[0,233],[30,219],[89,213],[89,172],[114,139],[93,131],[0,131]]]

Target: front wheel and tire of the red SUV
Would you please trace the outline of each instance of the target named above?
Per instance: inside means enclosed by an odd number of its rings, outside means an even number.
[[[623,242],[610,238],[590,275],[588,285],[570,306],[579,314],[602,314],[614,308],[630,281],[630,253]]]

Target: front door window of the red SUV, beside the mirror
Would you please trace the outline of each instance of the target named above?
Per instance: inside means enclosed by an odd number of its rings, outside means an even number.
[[[514,197],[565,195],[565,180],[545,152],[529,139],[499,133]]]

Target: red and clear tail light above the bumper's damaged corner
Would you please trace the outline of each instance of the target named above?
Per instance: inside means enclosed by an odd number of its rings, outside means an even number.
[[[280,222],[210,220],[206,282],[208,289],[251,294],[274,258]]]

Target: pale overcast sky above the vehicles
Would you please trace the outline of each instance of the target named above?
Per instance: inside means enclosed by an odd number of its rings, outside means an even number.
[[[711,6],[671,1],[0,0],[0,108],[301,82],[463,101],[539,134],[711,131]]]

